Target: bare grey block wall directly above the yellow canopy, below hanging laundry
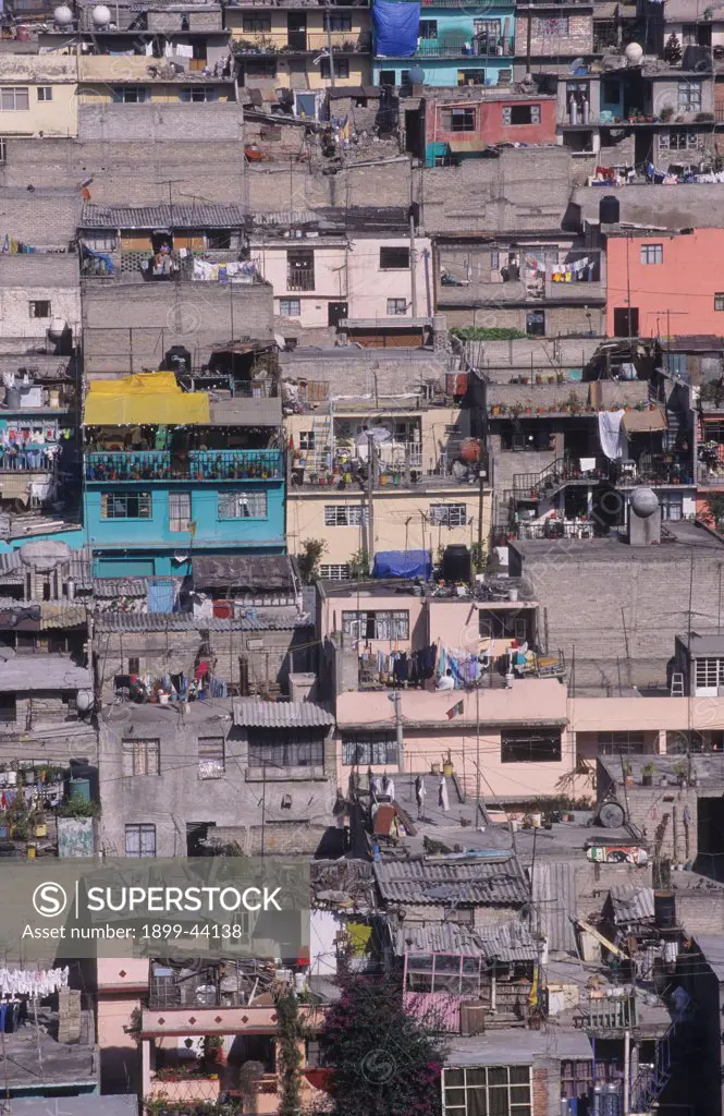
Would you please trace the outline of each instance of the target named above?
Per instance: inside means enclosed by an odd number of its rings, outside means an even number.
[[[83,289],[87,374],[155,369],[172,345],[195,366],[232,336],[272,336],[272,290],[214,282],[134,283],[86,280]]]

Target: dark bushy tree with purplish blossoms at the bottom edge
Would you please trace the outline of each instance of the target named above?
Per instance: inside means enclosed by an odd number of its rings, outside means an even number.
[[[440,1116],[443,1041],[406,1013],[397,981],[342,978],[319,1041],[334,1116]]]

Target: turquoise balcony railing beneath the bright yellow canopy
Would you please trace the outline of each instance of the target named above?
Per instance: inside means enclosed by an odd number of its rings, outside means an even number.
[[[280,450],[191,450],[185,463],[162,450],[86,454],[86,480],[267,481],[283,475]]]

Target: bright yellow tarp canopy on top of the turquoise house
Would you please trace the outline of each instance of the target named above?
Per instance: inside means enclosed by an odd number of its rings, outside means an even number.
[[[173,372],[148,372],[123,379],[93,379],[86,396],[87,426],[166,423],[207,426],[206,392],[184,392]]]

